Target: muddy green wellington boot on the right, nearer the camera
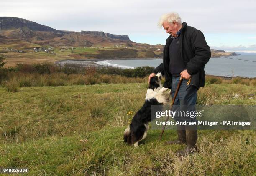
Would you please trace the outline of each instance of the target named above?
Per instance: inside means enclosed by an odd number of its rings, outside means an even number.
[[[186,141],[186,148],[184,150],[176,151],[177,155],[185,156],[187,154],[191,154],[197,151],[197,147],[195,146],[197,142],[197,130],[186,130]]]

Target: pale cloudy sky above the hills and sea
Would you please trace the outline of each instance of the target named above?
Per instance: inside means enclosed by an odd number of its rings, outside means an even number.
[[[20,17],[57,30],[128,35],[138,43],[165,44],[157,23],[177,12],[201,30],[211,49],[256,52],[255,0],[0,0],[0,16]]]

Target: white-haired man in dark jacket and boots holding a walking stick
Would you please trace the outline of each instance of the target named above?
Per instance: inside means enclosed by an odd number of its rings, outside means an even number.
[[[164,45],[163,62],[149,75],[148,81],[157,72],[164,74],[164,87],[172,90],[172,98],[180,77],[183,78],[179,92],[174,101],[174,110],[195,111],[197,90],[205,85],[205,64],[211,57],[210,47],[200,30],[181,23],[181,18],[175,12],[164,14],[159,20],[170,36]],[[190,81],[190,83],[189,83]],[[175,121],[196,121],[196,118],[174,117]],[[178,139],[167,144],[187,144],[177,155],[185,155],[197,150],[196,126],[177,126]]]

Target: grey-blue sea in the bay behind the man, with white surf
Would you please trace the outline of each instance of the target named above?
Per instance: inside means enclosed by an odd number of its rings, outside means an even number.
[[[256,77],[256,53],[236,52],[237,56],[213,57],[205,65],[205,73],[216,76]],[[162,59],[102,60],[95,63],[123,69],[141,66],[157,67]]]

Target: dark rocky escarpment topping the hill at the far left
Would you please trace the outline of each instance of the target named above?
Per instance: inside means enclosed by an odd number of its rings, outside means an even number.
[[[13,30],[18,28],[26,28],[35,31],[46,31],[64,33],[62,31],[53,29],[49,26],[40,25],[36,22],[25,20],[17,17],[0,17],[0,30]]]

